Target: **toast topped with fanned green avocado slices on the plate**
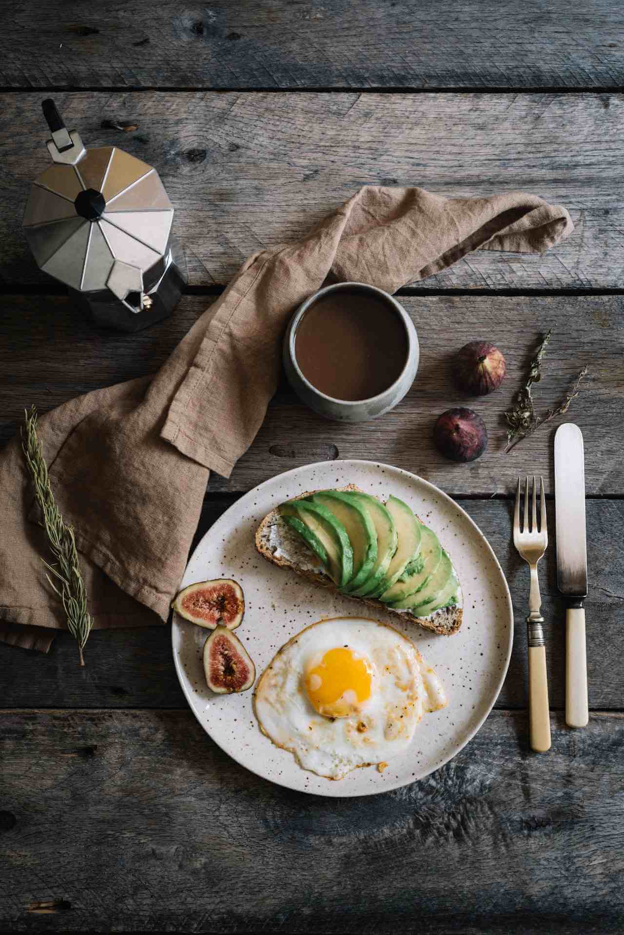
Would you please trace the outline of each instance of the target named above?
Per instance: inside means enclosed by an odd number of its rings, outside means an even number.
[[[435,633],[461,626],[461,585],[435,533],[397,497],[353,484],[301,494],[268,513],[256,549],[280,568]]]

